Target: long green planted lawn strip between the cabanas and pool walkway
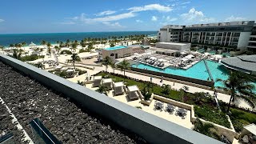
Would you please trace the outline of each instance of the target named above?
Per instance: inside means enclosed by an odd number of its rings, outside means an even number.
[[[114,78],[114,82],[121,82],[124,78],[119,76],[114,76],[111,74],[99,73],[98,75],[102,75],[102,77]],[[133,79],[125,78],[126,86],[137,85],[140,90],[146,86],[146,82],[139,82]],[[190,105],[195,106],[195,115],[198,118],[205,119],[206,121],[217,123],[218,125],[226,126],[230,128],[230,122],[228,121],[226,114],[220,112],[214,102],[213,98],[203,96],[204,93],[196,93],[191,94],[188,92],[184,92],[182,90],[170,90],[170,94],[163,94],[162,87],[156,84],[153,84],[152,93],[161,95],[165,98],[174,99],[178,102],[184,102]],[[201,94],[201,95],[200,95]]]

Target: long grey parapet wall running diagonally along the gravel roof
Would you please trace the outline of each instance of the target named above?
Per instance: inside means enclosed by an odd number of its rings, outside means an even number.
[[[38,82],[51,89],[62,92],[66,97],[74,99],[87,110],[109,119],[118,126],[138,134],[150,143],[222,143],[193,130],[178,126],[173,122],[138,110],[133,106],[118,102],[94,90],[89,90],[65,78],[50,74],[30,66],[25,62],[0,54],[0,61],[14,67],[16,70],[36,79]]]

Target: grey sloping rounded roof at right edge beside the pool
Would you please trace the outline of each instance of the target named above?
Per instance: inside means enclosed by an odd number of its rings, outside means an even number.
[[[221,63],[229,69],[256,75],[256,55],[222,58]]]

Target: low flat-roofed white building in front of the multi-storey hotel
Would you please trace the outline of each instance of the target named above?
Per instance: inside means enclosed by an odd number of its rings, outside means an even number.
[[[155,45],[158,48],[164,48],[169,50],[185,51],[190,50],[190,43],[178,43],[178,42],[158,42]]]

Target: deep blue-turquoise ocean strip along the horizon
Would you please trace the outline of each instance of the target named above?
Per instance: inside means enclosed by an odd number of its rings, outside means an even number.
[[[83,38],[108,38],[128,36],[135,34],[146,34],[156,35],[157,31],[120,31],[120,32],[85,32],[85,33],[46,33],[46,34],[0,34],[0,46],[10,46],[19,42],[34,42],[40,45],[42,40],[56,44],[57,41],[66,42],[67,39],[70,41],[78,40],[81,41]]]

